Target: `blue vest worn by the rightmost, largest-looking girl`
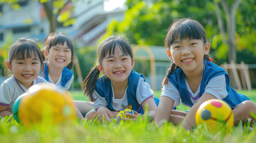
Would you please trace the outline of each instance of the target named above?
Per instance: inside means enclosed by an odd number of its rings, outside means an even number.
[[[229,76],[226,73],[226,71],[223,68],[219,67],[218,65],[210,61],[205,61],[205,69],[203,71],[203,78],[201,80],[199,98],[203,95],[204,89],[208,84],[208,82],[212,78],[223,75],[223,74],[225,74],[226,90],[228,95],[222,100],[224,100],[232,109],[235,108],[238,104],[242,103],[243,101],[250,100],[245,95],[237,93],[232,87],[230,87]],[[181,103],[189,107],[193,106],[194,104],[189,97],[186,83],[185,83],[184,73],[181,70],[181,68],[176,69],[170,75],[169,81],[176,87],[176,89],[179,90],[180,96],[181,96]]]

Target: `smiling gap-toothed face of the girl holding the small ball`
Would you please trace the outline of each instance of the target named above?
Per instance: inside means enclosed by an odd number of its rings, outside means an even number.
[[[99,71],[105,74],[111,82],[123,82],[129,77],[134,66],[134,59],[131,56],[123,54],[117,46],[115,49],[115,56],[107,55],[98,66]]]

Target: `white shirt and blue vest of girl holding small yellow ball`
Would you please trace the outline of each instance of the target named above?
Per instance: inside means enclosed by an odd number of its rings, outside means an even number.
[[[141,104],[148,98],[154,98],[154,92],[146,82],[142,74],[131,71],[129,83],[122,99],[116,99],[112,82],[103,76],[98,79],[93,92],[94,103],[92,107],[97,111],[100,107],[108,107],[110,111],[121,111],[122,109],[132,109],[143,114]],[[158,105],[159,99],[154,98]]]

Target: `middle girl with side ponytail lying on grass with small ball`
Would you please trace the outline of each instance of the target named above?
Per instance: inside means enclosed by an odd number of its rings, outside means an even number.
[[[134,72],[134,53],[129,41],[122,36],[110,36],[103,40],[97,49],[97,65],[84,81],[85,95],[94,102],[95,110],[87,113],[85,119],[104,118],[110,122],[122,109],[132,109],[135,114],[126,114],[136,120],[139,114],[144,113],[148,104],[148,115],[154,118],[158,98],[146,82],[142,74]],[[101,78],[99,74],[104,74]],[[177,113],[177,112],[176,112]]]

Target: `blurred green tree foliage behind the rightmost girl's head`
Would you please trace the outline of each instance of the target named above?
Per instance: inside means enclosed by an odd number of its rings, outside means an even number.
[[[229,5],[233,2],[227,1]],[[180,16],[191,17],[199,21],[205,28],[206,36],[212,47],[211,54],[213,57],[219,60],[220,64],[227,61],[228,47],[222,42],[212,0],[202,0],[200,3],[195,0],[128,0],[126,5],[128,10],[125,12],[125,19],[121,22],[113,20],[109,28],[112,31],[126,33],[127,38],[132,39],[133,44],[163,46],[164,35],[173,20]],[[251,57],[253,61],[256,60],[255,5],[256,1],[253,0],[241,1],[236,12],[237,31],[234,31],[237,51],[248,49],[248,52],[253,52],[253,57]],[[224,29],[226,29],[224,11],[221,9],[220,13],[223,17]],[[225,37],[227,39],[227,35]],[[241,56],[245,63],[251,61],[251,59],[246,58],[247,54]],[[240,63],[241,61],[238,60],[237,62]]]

